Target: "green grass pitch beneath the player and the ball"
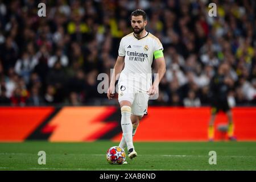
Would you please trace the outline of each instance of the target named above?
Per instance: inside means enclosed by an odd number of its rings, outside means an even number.
[[[138,157],[128,164],[106,161],[110,141],[0,143],[0,170],[256,170],[256,142],[135,142]],[[38,152],[46,164],[38,164]],[[217,164],[209,164],[216,151]]]

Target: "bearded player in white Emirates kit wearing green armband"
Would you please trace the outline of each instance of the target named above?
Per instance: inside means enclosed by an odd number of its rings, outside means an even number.
[[[158,94],[158,85],[166,72],[163,46],[159,39],[145,30],[146,13],[135,10],[131,13],[133,32],[121,39],[117,61],[108,89],[108,98],[112,99],[115,89],[115,78],[118,81],[118,101],[121,107],[122,139],[119,147],[128,150],[128,156],[137,156],[133,136],[144,114],[147,113],[149,97]],[[151,65],[154,60],[156,78],[152,83]],[[123,64],[125,67],[123,68]]]

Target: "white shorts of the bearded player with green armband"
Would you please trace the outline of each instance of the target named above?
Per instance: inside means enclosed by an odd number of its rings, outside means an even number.
[[[140,91],[135,91],[133,88],[126,86],[126,82],[119,80],[118,82],[118,101],[131,102],[131,114],[143,117],[147,114],[148,94]]]

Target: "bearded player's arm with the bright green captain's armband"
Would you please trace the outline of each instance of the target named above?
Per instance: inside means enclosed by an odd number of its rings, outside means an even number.
[[[158,93],[158,85],[162,80],[164,73],[166,73],[166,61],[164,60],[163,51],[162,49],[154,52],[155,56],[155,70],[156,70],[156,77],[154,79],[154,83],[152,84],[150,90],[148,90],[148,94],[150,96]]]

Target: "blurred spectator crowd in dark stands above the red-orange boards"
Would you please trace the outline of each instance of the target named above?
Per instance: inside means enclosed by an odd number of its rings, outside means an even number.
[[[38,16],[41,2],[46,17]],[[230,103],[255,105],[255,7],[254,0],[0,0],[0,105],[108,104],[97,76],[110,75],[135,9],[146,11],[167,65],[150,104],[209,105],[210,80],[226,62]]]

